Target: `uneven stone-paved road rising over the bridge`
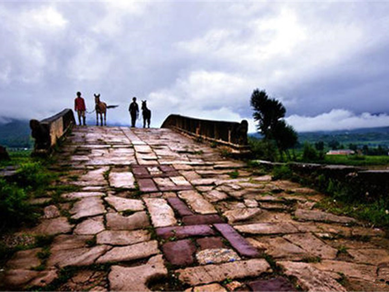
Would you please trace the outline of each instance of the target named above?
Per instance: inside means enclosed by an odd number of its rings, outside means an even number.
[[[53,170],[71,191],[29,231],[53,241],[15,254],[7,289],[389,290],[381,230],[171,130],[74,128]]]

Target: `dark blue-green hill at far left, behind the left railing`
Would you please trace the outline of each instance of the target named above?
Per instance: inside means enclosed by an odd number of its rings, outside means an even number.
[[[0,145],[7,148],[32,148],[34,143],[30,135],[29,121],[13,119],[0,124]]]

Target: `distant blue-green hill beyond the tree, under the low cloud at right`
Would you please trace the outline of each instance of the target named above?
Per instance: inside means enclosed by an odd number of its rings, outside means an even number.
[[[336,140],[340,144],[343,144],[346,148],[351,143],[358,146],[389,146],[389,127],[299,132],[298,135],[300,144],[303,144],[305,141],[309,143],[323,141],[324,143],[328,144],[328,142]],[[262,136],[258,133],[251,133],[249,136],[262,138]]]

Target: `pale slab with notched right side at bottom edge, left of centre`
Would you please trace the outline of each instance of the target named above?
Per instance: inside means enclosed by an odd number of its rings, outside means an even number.
[[[159,255],[137,267],[112,266],[108,279],[111,291],[150,291],[147,283],[163,276],[167,276],[167,269],[162,256]]]

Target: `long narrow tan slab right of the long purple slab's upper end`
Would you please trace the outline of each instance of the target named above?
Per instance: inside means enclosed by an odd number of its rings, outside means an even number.
[[[286,234],[297,233],[299,230],[289,222],[263,222],[247,225],[235,225],[234,228],[248,234]]]

